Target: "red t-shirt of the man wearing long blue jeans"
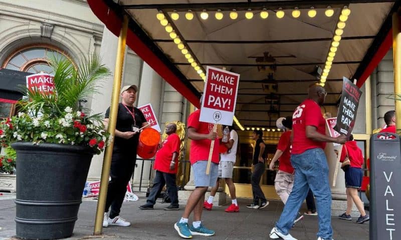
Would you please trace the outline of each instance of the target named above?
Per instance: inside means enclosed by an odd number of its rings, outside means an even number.
[[[292,154],[300,154],[312,148],[324,149],[326,146],[326,142],[313,141],[306,137],[306,126],[315,126],[319,133],[326,134],[326,125],[320,106],[312,99],[304,100],[292,115],[292,130],[294,132]]]

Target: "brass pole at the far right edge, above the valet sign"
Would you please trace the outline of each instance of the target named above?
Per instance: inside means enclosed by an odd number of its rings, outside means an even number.
[[[394,61],[394,93],[401,95],[401,30],[400,9],[392,14],[392,56]],[[401,128],[401,100],[395,100],[395,127]]]

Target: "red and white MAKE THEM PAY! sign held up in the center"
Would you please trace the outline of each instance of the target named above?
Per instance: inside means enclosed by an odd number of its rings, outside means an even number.
[[[232,125],[240,74],[208,66],[200,121]]]

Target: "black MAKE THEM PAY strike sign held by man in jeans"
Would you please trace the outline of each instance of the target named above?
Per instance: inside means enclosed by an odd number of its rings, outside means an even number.
[[[334,129],[346,136],[351,134],[355,124],[359,98],[362,91],[354,83],[343,77],[342,94]]]

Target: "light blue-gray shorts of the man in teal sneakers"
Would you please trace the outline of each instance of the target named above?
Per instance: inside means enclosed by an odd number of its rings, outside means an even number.
[[[219,165],[211,162],[209,175],[206,175],[207,160],[200,160],[192,165],[195,187],[215,186]]]

